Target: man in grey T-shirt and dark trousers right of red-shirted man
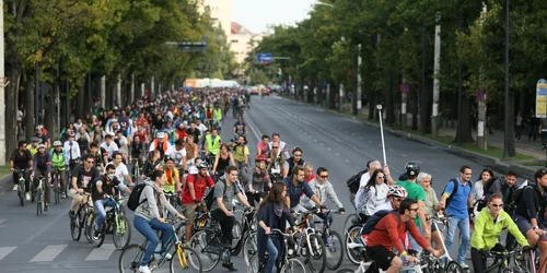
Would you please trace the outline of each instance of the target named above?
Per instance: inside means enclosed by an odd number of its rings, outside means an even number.
[[[235,224],[235,217],[233,214],[233,200],[237,197],[245,207],[251,207],[251,204],[247,202],[246,198],[240,191],[240,188],[236,186],[237,183],[237,168],[234,166],[228,166],[225,171],[224,180],[220,180],[214,186],[213,199],[216,202],[212,202],[211,205],[211,216],[220,223],[220,227],[222,229],[222,245],[228,250],[228,258],[222,263],[222,266],[230,270],[235,271],[234,265],[230,262],[230,247],[232,246],[233,235],[232,229]],[[225,190],[224,190],[225,188]]]

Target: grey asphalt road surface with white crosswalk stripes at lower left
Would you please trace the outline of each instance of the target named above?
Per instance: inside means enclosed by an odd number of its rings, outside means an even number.
[[[329,180],[348,212],[352,211],[352,206],[346,180],[363,169],[369,159],[383,161],[377,128],[314,106],[276,96],[264,99],[254,96],[244,118],[251,129],[248,142],[253,158],[256,143],[263,134],[280,133],[289,149],[302,147],[305,161],[312,162],[316,168],[324,166],[329,170]],[[222,130],[224,141],[232,138],[234,122],[235,119],[229,115]],[[418,162],[422,171],[433,175],[433,187],[438,193],[450,178],[457,176],[463,165],[473,168],[474,178],[482,169],[473,162],[441,152],[434,146],[389,133],[385,134],[385,145],[387,164],[394,177],[403,173],[407,162]],[[0,193],[0,272],[118,272],[120,252],[114,250],[112,237],[107,237],[100,249],[89,245],[83,236],[80,241],[71,239],[68,217],[70,201],[61,200],[60,204],[53,204],[48,212],[36,216],[34,203],[21,207],[15,192]],[[132,222],[132,215],[129,218]],[[345,216],[335,215],[334,227],[340,234],[344,234],[344,219]],[[142,240],[143,237],[133,228],[131,242],[141,244]],[[238,272],[246,272],[242,258],[233,258],[233,261]],[[341,268],[356,269],[348,261]],[[159,272],[166,271],[163,269]],[[224,270],[219,264],[213,272]]]

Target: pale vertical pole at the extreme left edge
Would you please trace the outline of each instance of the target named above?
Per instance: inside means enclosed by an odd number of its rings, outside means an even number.
[[[4,87],[5,87],[5,73],[4,73],[4,44],[3,44],[3,0],[0,0],[0,117],[4,120],[0,122],[0,166],[5,166],[5,119],[8,118],[5,115],[5,97],[4,97]],[[16,102],[12,102],[16,104]],[[10,117],[12,118],[12,117]],[[19,132],[18,132],[19,134]]]

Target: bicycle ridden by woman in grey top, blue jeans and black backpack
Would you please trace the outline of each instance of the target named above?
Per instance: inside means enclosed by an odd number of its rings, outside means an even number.
[[[162,246],[159,251],[154,251],[154,253],[152,254],[152,259],[150,259],[150,262],[147,265],[150,268],[150,271],[155,271],[160,269],[167,260],[171,260],[171,273],[179,272],[182,270],[188,270],[190,265],[198,273],[201,273],[201,260],[197,256],[197,252],[191,248],[185,247],[177,235],[181,228],[186,228],[186,222],[183,219],[174,222],[172,224],[173,234],[171,235],[167,245]],[[177,226],[176,228],[175,225]],[[150,241],[144,239],[144,242],[142,242],[141,245],[133,244],[124,249],[118,260],[119,272],[138,272],[149,244]],[[175,250],[173,251],[171,259],[167,259],[166,256],[170,253],[173,247],[175,247]],[[136,251],[136,253],[132,253],[131,251]],[[161,256],[159,259],[155,259],[155,254]],[[128,261],[125,261],[126,258],[128,259]],[[191,258],[196,258],[196,260]],[[175,270],[175,266],[179,266],[179,269]]]

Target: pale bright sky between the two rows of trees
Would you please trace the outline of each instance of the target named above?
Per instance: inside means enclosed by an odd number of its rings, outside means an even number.
[[[232,21],[252,33],[261,33],[268,25],[294,25],[306,19],[317,0],[232,0]]]

